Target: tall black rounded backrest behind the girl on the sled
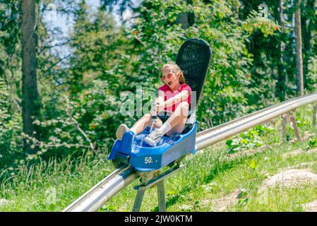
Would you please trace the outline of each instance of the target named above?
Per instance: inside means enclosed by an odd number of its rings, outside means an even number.
[[[196,104],[203,91],[203,83],[209,68],[211,49],[205,40],[192,38],[186,40],[179,49],[176,64],[184,72],[186,83],[196,91]],[[193,102],[192,102],[193,103]],[[195,110],[197,106],[191,106]]]

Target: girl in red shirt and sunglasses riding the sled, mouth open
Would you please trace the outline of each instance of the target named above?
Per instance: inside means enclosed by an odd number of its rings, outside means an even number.
[[[153,130],[145,137],[144,142],[155,146],[162,136],[173,136],[184,130],[191,103],[191,88],[186,84],[184,74],[175,63],[162,66],[161,80],[165,82],[158,89],[158,96],[151,114],[145,114],[138,119],[131,129],[126,124],[121,124],[116,129],[116,138],[121,140],[126,131],[132,131],[136,135],[152,124],[152,116],[157,116]]]

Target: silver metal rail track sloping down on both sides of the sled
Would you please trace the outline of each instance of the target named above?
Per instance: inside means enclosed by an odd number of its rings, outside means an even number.
[[[206,129],[205,131],[197,133],[196,145],[198,149],[206,148],[313,102],[317,102],[317,93],[296,97],[240,117],[239,119],[234,119],[225,124],[215,126],[211,129]],[[121,189],[124,189],[128,184],[131,184],[131,182],[138,177],[138,172],[136,172],[133,167],[124,165],[105,177],[101,182],[92,187],[92,189],[83,194],[83,196],[80,196],[80,198],[65,208],[63,212],[97,211],[109,198],[117,194]]]

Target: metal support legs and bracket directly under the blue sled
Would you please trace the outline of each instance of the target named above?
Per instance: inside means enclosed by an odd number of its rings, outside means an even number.
[[[160,212],[166,211],[165,205],[165,187],[164,187],[164,179],[169,177],[171,174],[179,171],[179,169],[184,168],[185,165],[177,165],[170,169],[167,169],[164,173],[160,174],[159,171],[152,171],[140,174],[141,184],[138,186],[134,186],[134,189],[137,190],[136,200],[133,205],[133,212],[140,211],[140,207],[143,201],[143,196],[145,194],[145,190],[149,189],[151,186],[157,186],[157,197],[158,197],[158,206]]]

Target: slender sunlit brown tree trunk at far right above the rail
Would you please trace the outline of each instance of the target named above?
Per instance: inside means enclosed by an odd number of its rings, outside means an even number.
[[[301,0],[296,1],[295,7],[295,37],[296,37],[296,70],[297,70],[297,90],[300,95],[304,95],[304,76],[303,76],[303,56],[301,43]]]

